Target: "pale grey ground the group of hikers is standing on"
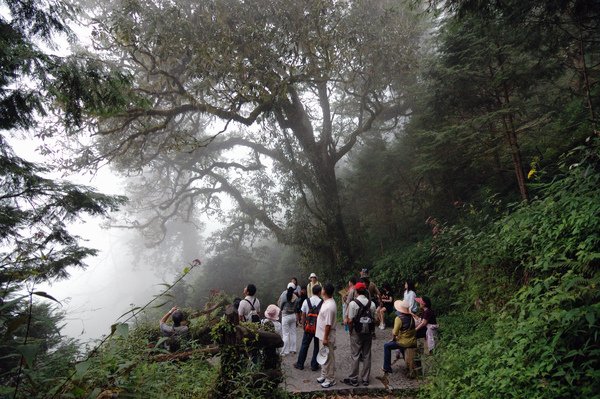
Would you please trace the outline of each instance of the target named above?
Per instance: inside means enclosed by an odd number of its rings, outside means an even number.
[[[297,328],[297,350],[300,350],[302,335],[304,332]],[[376,338],[373,340],[371,348],[371,377],[368,386],[353,387],[343,383],[348,378],[351,368],[350,358],[350,339],[342,326],[336,329],[336,349],[335,349],[335,379],[336,384],[331,388],[322,388],[317,383],[320,371],[311,371],[310,356],[312,355],[312,344],[309,348],[309,356],[304,364],[304,370],[297,370],[293,367],[298,355],[290,354],[282,358],[282,370],[285,375],[284,388],[291,393],[303,394],[307,398],[385,398],[387,397],[413,397],[422,383],[420,379],[409,379],[405,373],[405,362],[403,359],[392,360],[393,373],[384,374],[381,370],[383,366],[383,344],[391,339],[391,328],[385,330],[376,328]],[[395,359],[395,352],[392,353],[392,359]],[[424,359],[427,363],[428,359]],[[361,363],[361,370],[362,370]],[[425,366],[425,365],[424,365]],[[304,395],[306,394],[306,395]],[[404,395],[407,396],[404,396]]]

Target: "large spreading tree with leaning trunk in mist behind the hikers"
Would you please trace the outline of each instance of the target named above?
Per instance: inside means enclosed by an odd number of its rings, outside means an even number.
[[[336,168],[361,136],[409,114],[415,12],[333,0],[127,0],[91,12],[94,57],[132,84],[119,111],[84,96],[98,118],[79,162],[160,171],[145,182],[155,215],[144,225],[214,210],[225,193],[237,205],[230,232],[266,227],[337,270],[352,264]]]

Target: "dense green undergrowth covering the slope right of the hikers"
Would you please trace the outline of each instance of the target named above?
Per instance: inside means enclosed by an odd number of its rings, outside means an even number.
[[[436,238],[422,287],[452,311],[440,318],[437,364],[420,397],[600,395],[600,175],[593,151],[541,185],[530,203],[479,228],[471,215]]]

